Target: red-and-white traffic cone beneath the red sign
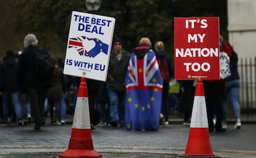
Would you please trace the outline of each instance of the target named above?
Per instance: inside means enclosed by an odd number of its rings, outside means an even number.
[[[207,109],[202,80],[197,80],[191,115],[189,140],[184,156],[214,156],[208,131]]]

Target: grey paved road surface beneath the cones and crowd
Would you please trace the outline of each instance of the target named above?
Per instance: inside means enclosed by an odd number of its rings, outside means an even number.
[[[0,127],[0,157],[58,157],[67,149],[72,123],[40,131],[33,124]],[[228,125],[224,133],[210,133],[213,154],[219,157],[255,157],[256,124],[245,123],[241,130]],[[189,139],[189,127],[174,122],[158,131],[127,131],[124,128],[96,127],[92,130],[95,151],[103,157],[181,157]]]

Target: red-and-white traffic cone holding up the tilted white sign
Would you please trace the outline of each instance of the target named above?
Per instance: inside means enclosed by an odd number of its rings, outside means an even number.
[[[59,157],[101,157],[93,150],[86,79],[81,78],[69,148]]]

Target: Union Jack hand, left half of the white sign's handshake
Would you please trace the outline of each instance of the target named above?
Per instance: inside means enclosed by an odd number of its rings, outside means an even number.
[[[83,48],[83,40],[89,39],[86,36],[69,38],[69,48],[75,48],[80,56],[87,56],[87,51]]]

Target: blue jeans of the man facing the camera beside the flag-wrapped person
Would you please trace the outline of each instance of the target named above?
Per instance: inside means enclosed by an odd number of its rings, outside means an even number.
[[[110,121],[124,123],[126,91],[112,91],[108,89]]]

